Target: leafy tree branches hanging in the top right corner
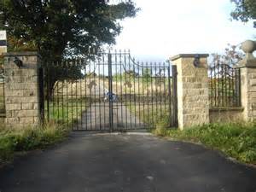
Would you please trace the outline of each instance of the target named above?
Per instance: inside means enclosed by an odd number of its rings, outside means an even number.
[[[247,22],[256,19],[256,1],[255,0],[231,0],[236,4],[236,9],[231,12],[231,16],[235,20]],[[256,27],[256,21],[254,22]]]

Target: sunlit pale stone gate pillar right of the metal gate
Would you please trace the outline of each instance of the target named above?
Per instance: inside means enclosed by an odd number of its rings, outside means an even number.
[[[183,130],[209,123],[207,54],[181,54],[171,58],[177,66],[177,119]]]

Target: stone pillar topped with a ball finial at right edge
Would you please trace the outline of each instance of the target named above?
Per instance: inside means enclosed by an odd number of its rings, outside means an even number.
[[[243,60],[238,62],[236,68],[241,72],[241,107],[243,119],[253,121],[256,119],[256,42],[247,40],[241,44],[241,49],[246,53]]]

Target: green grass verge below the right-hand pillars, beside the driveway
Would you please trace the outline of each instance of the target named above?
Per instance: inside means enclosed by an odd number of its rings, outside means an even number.
[[[256,124],[230,123],[195,126],[179,131],[158,125],[154,134],[177,140],[202,143],[242,163],[256,165]]]

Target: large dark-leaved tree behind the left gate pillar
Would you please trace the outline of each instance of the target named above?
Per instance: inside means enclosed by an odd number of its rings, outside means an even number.
[[[44,63],[88,56],[90,49],[114,44],[122,29],[119,21],[134,17],[138,11],[131,1],[109,0],[2,0],[0,7],[0,28],[22,43],[20,47],[32,45]],[[50,89],[58,80],[81,76],[80,65],[49,67],[46,78]]]

